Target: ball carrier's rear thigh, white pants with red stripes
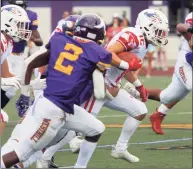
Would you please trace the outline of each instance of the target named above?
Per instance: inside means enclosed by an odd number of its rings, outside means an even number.
[[[91,98],[89,98],[81,105],[81,107],[96,117],[98,116],[105,102],[106,102],[106,99],[98,100],[94,97],[94,95],[92,95]]]

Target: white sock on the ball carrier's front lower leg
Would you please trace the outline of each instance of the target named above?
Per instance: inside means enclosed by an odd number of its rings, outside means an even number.
[[[116,144],[117,151],[122,152],[127,149],[127,144],[140,123],[141,121],[138,121],[133,117],[130,116],[127,117],[127,119],[124,122],[119,140],[117,141]]]

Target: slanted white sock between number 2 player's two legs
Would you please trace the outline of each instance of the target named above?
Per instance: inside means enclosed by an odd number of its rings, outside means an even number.
[[[42,156],[42,159],[48,160],[48,161],[51,160],[51,158],[54,156],[54,154],[59,149],[61,149],[65,144],[67,144],[69,141],[71,141],[75,136],[76,136],[75,131],[70,130],[62,140],[60,140],[55,145],[46,149],[46,151],[44,152],[44,154]]]

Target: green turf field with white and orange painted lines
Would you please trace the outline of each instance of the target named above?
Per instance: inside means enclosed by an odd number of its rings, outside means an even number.
[[[153,77],[152,79],[141,78],[146,87],[164,88],[171,77]],[[176,91],[177,92],[177,91]],[[15,122],[18,120],[15,111],[15,99],[6,107],[10,115],[10,123],[2,137],[4,143],[10,136]],[[149,114],[159,105],[157,102],[148,101]],[[129,152],[139,157],[138,163],[128,163],[123,160],[111,158],[111,145],[115,144],[126,114],[103,108],[99,119],[107,127],[101,137],[89,166],[91,168],[192,168],[192,95],[189,94],[183,101],[174,107],[164,120],[168,124],[164,129],[165,135],[156,135],[148,127],[148,116],[143,121],[130,140]],[[117,126],[115,126],[115,124]],[[177,128],[175,128],[177,127]],[[172,147],[172,148],[171,148]],[[77,154],[68,151],[68,146],[56,153],[55,161],[60,167],[73,166]]]

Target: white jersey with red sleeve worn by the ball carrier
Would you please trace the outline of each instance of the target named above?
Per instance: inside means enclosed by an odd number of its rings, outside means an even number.
[[[140,29],[134,27],[123,29],[121,32],[116,34],[113,39],[111,39],[107,47],[116,41],[119,41],[125,47],[125,51],[129,51],[137,55],[138,58],[142,60],[145,57],[147,47],[144,36]],[[120,70],[117,67],[112,67],[111,69],[107,70],[105,78],[106,83],[115,86],[126,73],[127,71]]]

